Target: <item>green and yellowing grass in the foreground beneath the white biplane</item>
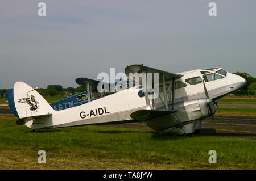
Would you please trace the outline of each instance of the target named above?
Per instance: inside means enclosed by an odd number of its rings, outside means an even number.
[[[96,126],[30,132],[15,120],[0,119],[0,169],[256,169],[255,140]],[[41,149],[47,164],[37,163]]]

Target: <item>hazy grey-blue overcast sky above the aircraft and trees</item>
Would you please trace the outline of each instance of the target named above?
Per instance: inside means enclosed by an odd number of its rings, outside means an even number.
[[[38,16],[38,3],[46,16]],[[209,16],[216,2],[217,16]],[[182,71],[219,66],[256,77],[256,1],[1,1],[0,89],[77,87],[131,64]]]

